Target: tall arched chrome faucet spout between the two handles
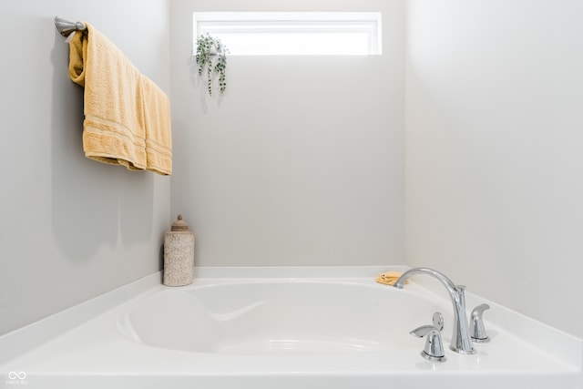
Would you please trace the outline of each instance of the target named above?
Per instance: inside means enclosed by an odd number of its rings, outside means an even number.
[[[465,286],[455,285],[450,279],[439,271],[428,268],[414,268],[405,271],[403,275],[394,282],[394,287],[403,289],[404,282],[414,274],[426,274],[439,280],[449,292],[454,306],[454,333],[452,334],[452,342],[449,348],[455,353],[472,354],[476,353],[472,346],[472,339],[470,337],[469,327],[467,325],[467,318],[465,316]]]

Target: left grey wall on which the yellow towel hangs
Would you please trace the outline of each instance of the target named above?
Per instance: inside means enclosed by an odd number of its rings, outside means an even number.
[[[159,271],[169,178],[83,155],[56,15],[87,20],[169,93],[169,2],[0,5],[0,334]]]

